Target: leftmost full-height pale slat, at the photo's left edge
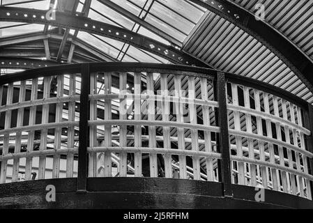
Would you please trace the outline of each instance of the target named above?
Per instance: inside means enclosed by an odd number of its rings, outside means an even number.
[[[10,105],[13,102],[13,83],[8,84],[8,91],[6,96],[6,105]],[[12,110],[6,111],[6,119],[4,121],[4,129],[11,128],[11,118],[12,118]],[[3,136],[3,148],[2,155],[8,154],[8,146],[9,146],[10,134],[4,134]],[[0,183],[6,183],[6,171],[7,171],[8,160],[1,161],[1,177]]]

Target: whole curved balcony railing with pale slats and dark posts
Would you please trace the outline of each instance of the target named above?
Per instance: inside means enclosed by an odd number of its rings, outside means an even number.
[[[206,68],[83,63],[0,77],[0,183],[164,177],[312,199],[312,107]]]

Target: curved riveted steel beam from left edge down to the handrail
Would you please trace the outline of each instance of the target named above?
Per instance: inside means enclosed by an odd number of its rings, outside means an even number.
[[[182,52],[175,47],[160,43],[152,38],[140,35],[138,33],[123,29],[111,24],[91,20],[87,17],[70,15],[68,13],[56,12],[56,20],[47,20],[46,10],[35,10],[29,8],[0,7],[0,21],[6,22],[27,22],[35,24],[49,24],[52,26],[61,26],[66,29],[77,29],[94,33],[99,36],[105,36],[123,43],[128,43],[134,47],[144,49],[148,52],[161,56],[172,63],[181,63],[184,65],[209,67],[207,63],[200,61]]]

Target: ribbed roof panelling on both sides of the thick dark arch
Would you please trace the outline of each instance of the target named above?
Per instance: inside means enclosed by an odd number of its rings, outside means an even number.
[[[246,3],[247,1],[240,2]],[[264,1],[254,1],[254,3],[249,1],[249,4],[245,4],[245,6],[250,6],[250,8],[252,7],[251,10],[254,10],[255,3],[257,2]],[[280,8],[279,10],[279,7],[290,4],[281,3],[275,5],[278,7],[275,8],[275,11],[280,12],[277,13],[276,16],[280,17],[280,14],[285,13],[282,13],[283,8]],[[301,6],[302,4],[296,5]],[[272,14],[266,14],[266,17]],[[285,16],[292,17],[289,14],[290,13]],[[299,13],[297,13],[297,10],[292,10],[291,14],[298,15]],[[201,24],[198,24],[197,29],[185,43],[184,49],[186,52],[219,70],[234,72],[238,75],[244,75],[259,79],[263,82],[268,82],[269,84],[290,91],[310,103],[313,102],[313,95],[309,89],[307,89],[305,84],[303,84],[294,72],[292,72],[282,60],[271,52],[270,49],[259,43],[258,40],[242,29],[239,29],[238,26],[231,24],[231,22],[224,20],[215,13],[208,12],[205,16],[205,19]],[[277,26],[282,24],[283,27],[285,27],[285,24],[288,24],[286,22],[280,22],[280,19],[274,18],[274,16],[275,15],[272,15],[273,19],[269,20],[270,22],[273,22],[273,24]],[[312,21],[311,18],[310,22],[312,23]],[[307,25],[303,28],[306,29],[292,29],[293,34],[291,34],[291,36],[296,37],[295,40],[298,40],[297,43],[309,42],[310,44],[306,44],[305,46],[311,45],[312,47],[313,40],[310,38],[310,36],[312,36],[312,31],[308,31],[310,26]],[[302,31],[304,33],[298,33]],[[307,32],[310,32],[310,35],[305,35]],[[295,33],[298,33],[298,35]],[[305,40],[300,40],[300,36],[305,36],[303,37]],[[310,52],[310,50],[307,50],[306,52]]]

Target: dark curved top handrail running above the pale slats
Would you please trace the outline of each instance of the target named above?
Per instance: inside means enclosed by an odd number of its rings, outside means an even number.
[[[160,64],[160,63],[135,63],[135,62],[94,62],[94,63],[76,63],[76,64],[64,64],[58,66],[49,66],[47,68],[35,68],[30,70],[24,70],[22,72],[15,72],[8,75],[0,76],[1,84],[8,84],[11,82],[20,82],[22,80],[46,77],[50,75],[69,75],[79,73],[82,66],[89,64],[90,72],[171,72],[172,74],[180,74],[185,76],[197,76],[197,77],[211,77],[216,79],[218,72],[222,72],[226,79],[231,80],[237,84],[247,84],[254,89],[268,91],[281,98],[292,101],[295,105],[305,107],[307,102],[302,98],[299,98],[292,93],[280,89],[277,86],[273,86],[266,82],[261,82],[257,79],[244,77],[241,75],[235,75],[230,72],[223,72],[222,70],[213,70],[210,68],[200,68],[195,66],[185,65],[172,65],[172,64]]]

